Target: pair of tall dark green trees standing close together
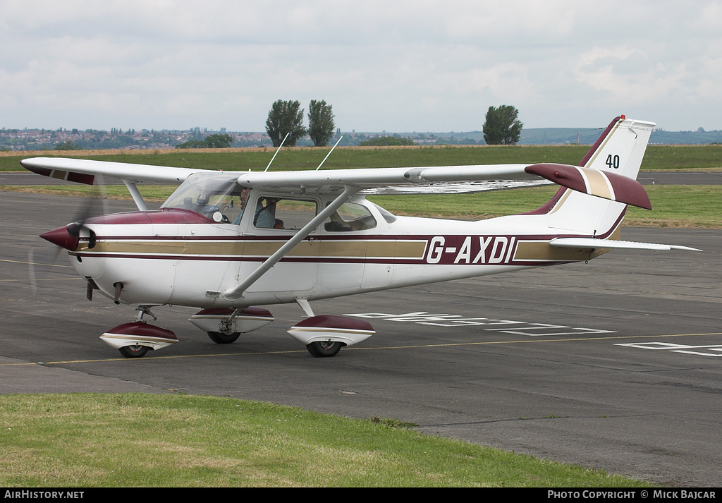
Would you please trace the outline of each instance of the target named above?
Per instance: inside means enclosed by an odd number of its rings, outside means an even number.
[[[303,108],[298,101],[277,100],[266,120],[268,133],[274,147],[279,147],[288,134],[286,145],[293,147],[307,133],[313,145],[323,147],[334,136],[334,112],[325,100],[311,100],[308,106],[308,129],[303,125]]]

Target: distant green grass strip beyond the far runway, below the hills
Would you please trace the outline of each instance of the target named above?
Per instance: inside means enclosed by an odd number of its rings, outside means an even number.
[[[323,164],[333,168],[389,168],[435,165],[562,163],[576,165],[591,145],[436,145],[417,147],[338,147]],[[0,152],[0,171],[22,171],[31,157],[66,157],[179,168],[258,171],[273,157],[272,148],[194,150],[92,150]],[[271,171],[314,169],[329,147],[284,147]],[[649,145],[644,171],[722,169],[722,145]]]

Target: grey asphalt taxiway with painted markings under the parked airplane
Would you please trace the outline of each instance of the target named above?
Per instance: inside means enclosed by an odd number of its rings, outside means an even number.
[[[377,334],[313,358],[286,330],[297,306],[231,345],[154,309],[181,340],[139,359],[98,337],[131,306],[85,298],[38,234],[79,199],[0,192],[0,394],[183,392],[342,416],[676,486],[722,484],[722,231],[624,228],[703,252],[614,251],[549,267],[313,303]],[[108,210],[132,209],[110,202]]]

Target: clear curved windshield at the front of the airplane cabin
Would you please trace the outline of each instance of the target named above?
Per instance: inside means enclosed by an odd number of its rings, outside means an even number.
[[[193,173],[161,208],[192,210],[217,222],[236,223],[247,194],[248,189],[239,186],[235,176]]]

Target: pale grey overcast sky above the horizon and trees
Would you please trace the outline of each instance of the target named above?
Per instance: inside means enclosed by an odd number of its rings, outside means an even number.
[[[0,1],[0,127],[722,129],[722,1]]]

